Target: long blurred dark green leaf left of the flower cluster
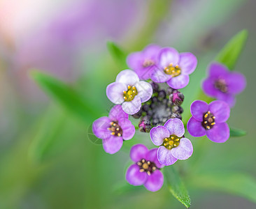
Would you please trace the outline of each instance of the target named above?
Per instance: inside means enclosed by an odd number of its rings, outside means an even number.
[[[90,100],[85,102],[82,96],[73,90],[71,86],[38,70],[32,70],[30,75],[45,93],[72,114],[81,118],[85,123],[92,121],[98,116],[97,107],[95,107],[97,104],[92,103]]]

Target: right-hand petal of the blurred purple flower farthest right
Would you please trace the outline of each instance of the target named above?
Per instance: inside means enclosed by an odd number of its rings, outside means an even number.
[[[229,93],[241,93],[246,88],[246,77],[239,72],[232,72],[227,79]]]

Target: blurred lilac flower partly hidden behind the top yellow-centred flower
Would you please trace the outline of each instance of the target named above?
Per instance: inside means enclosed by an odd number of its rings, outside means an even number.
[[[157,69],[157,55],[161,47],[148,45],[141,52],[134,52],[127,57],[127,65],[134,70],[142,80],[150,79]]]

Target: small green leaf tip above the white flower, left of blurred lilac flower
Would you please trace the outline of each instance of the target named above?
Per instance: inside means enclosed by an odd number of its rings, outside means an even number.
[[[122,68],[127,68],[127,54],[118,45],[116,45],[115,42],[108,41],[107,47],[114,61],[117,61],[122,66]]]

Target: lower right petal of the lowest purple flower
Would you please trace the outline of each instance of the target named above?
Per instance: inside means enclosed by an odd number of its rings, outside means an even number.
[[[157,170],[151,173],[148,176],[148,180],[145,182],[144,186],[151,192],[157,192],[159,189],[162,188],[164,184],[164,176],[161,171]]]

